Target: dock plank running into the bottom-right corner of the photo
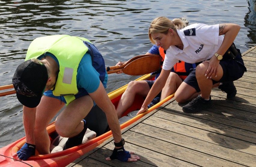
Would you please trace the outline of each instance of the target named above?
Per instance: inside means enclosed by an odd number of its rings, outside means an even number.
[[[207,141],[202,141],[199,139],[195,139],[192,137],[188,137],[186,135],[180,135],[174,132],[170,132],[165,129],[160,129],[154,126],[150,126],[147,124],[139,124],[132,129],[132,132],[136,132],[139,134],[147,135],[152,138],[160,139],[163,141],[167,141],[172,144],[176,144],[182,147],[186,147],[195,151],[199,151],[202,153],[206,153],[215,157],[219,157],[222,159],[226,159],[231,162],[236,162],[238,164],[253,166],[255,165],[256,156],[242,153],[237,150],[233,150],[227,147],[222,147],[217,144],[212,144]],[[125,136],[140,136],[139,134],[133,134],[132,132],[126,132]],[[168,136],[166,138],[166,136]],[[136,138],[129,138],[130,142],[133,142]],[[133,142],[133,144],[135,144]],[[168,145],[168,147],[171,147]],[[183,150],[183,149],[181,149]]]

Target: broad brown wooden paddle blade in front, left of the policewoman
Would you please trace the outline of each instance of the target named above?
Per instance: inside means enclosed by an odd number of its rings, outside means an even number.
[[[155,72],[161,68],[161,60],[162,57],[160,55],[141,57],[126,65],[123,68],[123,73],[128,75],[144,75]]]

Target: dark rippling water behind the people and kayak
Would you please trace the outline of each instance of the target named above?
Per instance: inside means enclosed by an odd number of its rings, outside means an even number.
[[[159,16],[185,17],[189,23],[236,23],[236,46],[256,44],[255,0],[14,0],[0,1],[0,86],[11,84],[31,41],[68,34],[92,41],[106,65],[146,53],[152,46],[148,26]],[[107,92],[138,76],[110,74]],[[0,97],[0,147],[25,135],[22,105],[16,96]]]

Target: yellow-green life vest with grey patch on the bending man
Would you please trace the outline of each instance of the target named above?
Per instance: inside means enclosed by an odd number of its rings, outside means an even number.
[[[29,45],[26,60],[36,59],[46,52],[52,53],[59,61],[58,79],[53,90],[54,96],[64,96],[67,104],[75,99],[77,89],[78,65],[88,51],[83,43],[86,38],[69,35],[50,35],[36,38]],[[91,43],[91,42],[90,42]]]

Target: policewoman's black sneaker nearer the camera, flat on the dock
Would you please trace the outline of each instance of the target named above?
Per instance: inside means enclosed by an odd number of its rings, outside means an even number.
[[[210,96],[209,100],[203,99],[200,95],[198,95],[195,99],[189,102],[187,105],[182,107],[182,110],[185,113],[196,113],[201,110],[211,108],[213,106],[213,102]]]

